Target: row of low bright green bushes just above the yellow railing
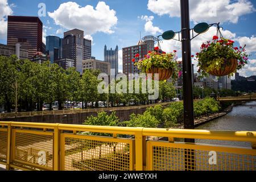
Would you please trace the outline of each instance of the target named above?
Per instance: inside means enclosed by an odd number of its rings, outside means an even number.
[[[213,98],[194,101],[195,117],[217,113],[221,109],[219,103]],[[131,114],[129,121],[119,122],[114,112],[108,115],[106,112],[99,112],[96,117],[90,116],[86,119],[85,125],[96,126],[127,126],[127,127],[174,127],[183,122],[183,103],[172,102],[166,109],[161,105],[148,107],[143,114]]]

